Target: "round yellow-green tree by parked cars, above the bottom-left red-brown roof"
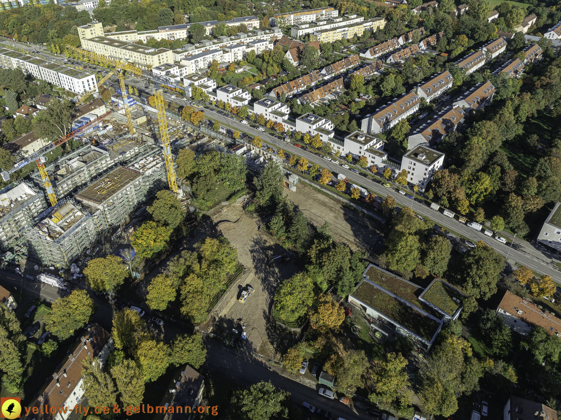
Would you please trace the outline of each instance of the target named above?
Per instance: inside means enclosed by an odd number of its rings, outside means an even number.
[[[61,340],[88,323],[94,312],[94,301],[85,290],[73,290],[67,297],[53,302],[52,311],[45,315],[45,327]]]

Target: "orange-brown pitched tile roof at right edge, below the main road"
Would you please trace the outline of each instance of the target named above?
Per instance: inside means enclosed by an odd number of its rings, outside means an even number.
[[[561,319],[549,311],[540,309],[536,304],[517,296],[509,290],[504,293],[504,297],[502,301],[500,301],[498,309],[502,309],[509,315],[526,322],[526,324],[540,326],[545,329],[548,334],[561,334]]]

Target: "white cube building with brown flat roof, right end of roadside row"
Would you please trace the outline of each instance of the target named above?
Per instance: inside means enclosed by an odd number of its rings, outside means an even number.
[[[444,153],[429,149],[425,146],[417,146],[408,151],[401,158],[401,170],[407,170],[407,182],[419,186],[424,190],[426,184],[433,174],[442,169]]]

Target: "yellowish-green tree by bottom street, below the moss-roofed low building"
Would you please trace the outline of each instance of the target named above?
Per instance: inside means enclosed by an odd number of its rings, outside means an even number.
[[[407,372],[404,370],[407,363],[407,359],[401,353],[387,353],[384,361],[374,363],[373,379],[376,391],[368,396],[371,403],[379,399],[381,404],[390,407],[410,387]]]

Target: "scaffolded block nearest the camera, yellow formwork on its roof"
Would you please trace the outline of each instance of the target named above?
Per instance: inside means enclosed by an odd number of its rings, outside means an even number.
[[[103,218],[96,220],[72,200],[59,202],[35,220],[35,226],[24,234],[29,256],[56,267],[69,267],[107,228]]]

